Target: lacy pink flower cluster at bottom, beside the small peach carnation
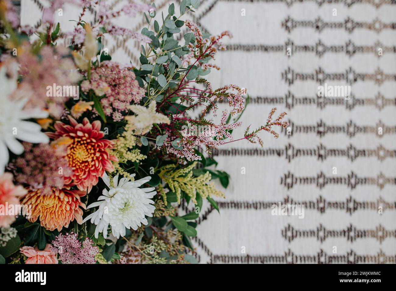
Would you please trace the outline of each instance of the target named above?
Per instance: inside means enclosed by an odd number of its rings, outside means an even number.
[[[95,255],[99,253],[92,240],[85,238],[80,242],[73,232],[56,236],[50,249],[59,254],[62,264],[95,264]]]

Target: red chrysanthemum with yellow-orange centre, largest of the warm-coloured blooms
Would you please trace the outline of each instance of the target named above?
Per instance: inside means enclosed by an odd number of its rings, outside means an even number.
[[[114,171],[111,161],[117,161],[115,156],[107,152],[112,149],[114,143],[108,139],[103,139],[105,134],[100,131],[101,122],[96,120],[89,123],[88,118],[84,118],[81,123],[76,122],[69,116],[70,125],[63,122],[55,123],[55,133],[47,135],[55,141],[53,146],[57,146],[57,140],[61,144],[67,144],[66,158],[69,166],[73,169],[73,175],[65,178],[65,183],[76,184],[78,189],[91,192],[92,186],[98,183],[105,171]],[[65,143],[65,140],[68,142]]]

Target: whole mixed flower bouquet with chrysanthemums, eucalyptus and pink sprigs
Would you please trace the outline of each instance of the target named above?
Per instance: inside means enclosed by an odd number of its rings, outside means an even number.
[[[70,31],[53,17],[67,2],[81,8]],[[273,108],[232,139],[249,99],[206,79],[231,34],[189,21],[199,4],[159,13],[154,3],[55,0],[39,26],[21,27],[0,0],[0,263],[197,262],[194,221],[204,200],[219,210],[229,180],[211,150],[262,145],[257,133],[277,138],[273,127],[287,126]],[[147,25],[114,24],[123,15]],[[107,35],[140,42],[141,64],[112,61]],[[216,123],[218,103],[229,110]]]

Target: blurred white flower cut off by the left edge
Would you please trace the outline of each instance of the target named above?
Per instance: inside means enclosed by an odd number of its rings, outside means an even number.
[[[40,125],[24,120],[46,118],[48,112],[40,108],[24,109],[28,99],[17,99],[12,95],[17,91],[17,71],[15,62],[0,67],[0,174],[8,163],[7,148],[17,155],[23,153],[23,145],[17,139],[29,143],[49,142]]]

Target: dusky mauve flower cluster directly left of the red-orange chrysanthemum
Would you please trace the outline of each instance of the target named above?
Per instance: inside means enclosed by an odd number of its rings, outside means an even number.
[[[41,189],[44,195],[52,194],[52,188],[62,189],[64,177],[73,173],[65,156],[66,148],[54,149],[50,145],[23,143],[25,153],[10,163],[15,181],[30,185],[30,190]]]

